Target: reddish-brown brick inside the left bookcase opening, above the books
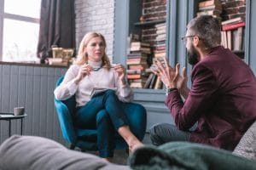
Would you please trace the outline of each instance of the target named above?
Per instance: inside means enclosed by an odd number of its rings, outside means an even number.
[[[166,19],[166,0],[143,0],[143,20]],[[154,26],[145,26],[142,32],[142,41],[154,45],[156,29]]]

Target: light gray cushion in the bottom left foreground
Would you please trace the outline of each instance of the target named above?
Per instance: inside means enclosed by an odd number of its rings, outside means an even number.
[[[67,150],[50,139],[12,136],[0,146],[1,170],[83,170],[130,169],[114,165],[98,156]]]

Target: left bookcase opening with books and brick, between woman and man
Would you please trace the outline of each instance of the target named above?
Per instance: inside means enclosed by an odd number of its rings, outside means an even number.
[[[142,14],[133,23],[137,30],[128,37],[127,79],[131,88],[162,89],[150,66],[154,59],[166,57],[166,1],[143,0],[139,10]]]

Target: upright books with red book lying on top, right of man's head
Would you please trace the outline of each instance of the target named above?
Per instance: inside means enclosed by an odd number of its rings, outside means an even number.
[[[230,48],[232,51],[241,51],[244,49],[244,27],[246,23],[243,17],[237,17],[225,20],[221,23],[221,44],[224,48]]]

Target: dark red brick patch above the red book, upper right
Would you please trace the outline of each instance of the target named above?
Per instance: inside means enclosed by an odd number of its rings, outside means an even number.
[[[221,0],[223,12],[221,17],[223,20],[229,20],[246,15],[246,0]]]

